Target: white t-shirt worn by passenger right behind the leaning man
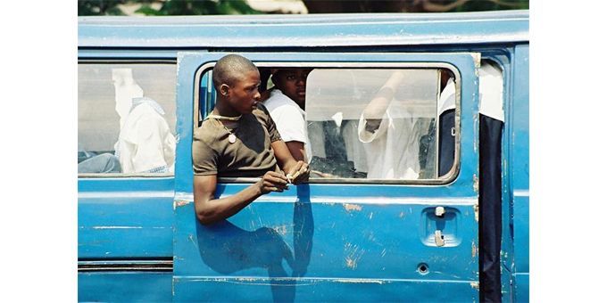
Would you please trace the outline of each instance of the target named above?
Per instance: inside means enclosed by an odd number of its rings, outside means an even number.
[[[270,111],[270,117],[274,120],[282,141],[303,143],[308,162],[312,160],[308,127],[305,123],[305,111],[302,111],[299,105],[287,97],[286,94],[282,94],[278,88],[270,91],[270,98],[263,104]]]

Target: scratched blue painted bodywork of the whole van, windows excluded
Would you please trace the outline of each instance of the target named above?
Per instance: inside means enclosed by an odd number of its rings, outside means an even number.
[[[200,64],[204,58],[212,58],[204,52],[218,50],[255,52],[246,54],[255,61],[403,61],[405,58],[405,61],[451,61],[459,68],[468,64],[447,53],[470,52],[482,53],[484,59],[497,61],[504,71],[506,109],[502,258],[503,284],[509,287],[503,287],[503,300],[528,300],[527,11],[80,18],[80,60],[179,61],[177,94],[182,97],[178,98],[177,179],[171,176],[79,178],[79,259],[118,259],[129,263],[137,262],[133,261],[137,258],[173,257],[175,272],[80,273],[79,300],[240,298],[268,301],[288,300],[292,296],[296,300],[478,299],[475,284],[478,263],[471,242],[478,229],[470,220],[477,197],[473,176],[478,168],[473,165],[478,163],[478,155],[470,146],[478,140],[475,120],[478,104],[472,102],[478,98],[478,83],[465,80],[473,74],[470,67],[462,71],[462,96],[472,98],[463,100],[461,107],[461,159],[466,160],[462,161],[460,175],[452,184],[309,184],[305,191],[300,186],[300,192],[294,186],[290,191],[255,201],[229,220],[233,227],[223,230],[226,237],[250,240],[256,236],[256,242],[269,248],[268,253],[262,254],[265,259],[255,260],[257,263],[232,262],[232,266],[268,262],[273,265],[272,274],[270,267],[249,266],[229,273],[234,267],[217,267],[217,262],[212,261],[205,263],[204,258],[209,259],[208,250],[204,250],[203,258],[198,236],[206,234],[203,233],[206,227],[195,223],[192,205],[193,102],[187,98],[191,99],[193,94],[195,62]],[[408,54],[403,56],[403,53]],[[345,54],[346,57],[342,57]],[[219,54],[213,58],[217,57]],[[188,58],[192,61],[182,65]],[[218,192],[231,194],[245,185],[220,184]],[[447,222],[445,226],[445,230],[450,231],[445,232],[445,236],[448,240],[452,237],[451,243],[457,245],[449,246],[447,241],[443,248],[428,246],[431,244],[428,230],[436,225],[428,216],[428,210],[438,205],[458,213],[457,220],[453,220],[456,224]],[[401,218],[399,209],[411,209],[411,214],[403,211],[404,218]],[[312,216],[308,216],[309,213]],[[396,213],[402,221],[395,218]],[[308,220],[310,217],[312,221]],[[457,226],[457,232],[452,226]],[[410,233],[410,230],[414,231]],[[275,237],[277,234],[279,237]],[[312,241],[308,242],[309,239]],[[218,241],[221,243],[220,238],[202,243],[209,246]],[[274,242],[285,243],[294,254],[291,264],[285,259],[279,266],[271,262],[275,252],[270,249],[275,248]],[[412,245],[405,245],[406,242]],[[309,250],[305,249],[307,243],[312,244]],[[379,244],[386,248],[383,257],[384,249],[379,250]],[[353,253],[352,257],[348,251]],[[245,252],[263,251],[255,248]],[[470,256],[466,258],[470,258],[471,263],[462,263],[463,256]],[[305,261],[307,258],[309,262]],[[350,258],[349,263],[346,258]],[[210,259],[221,260],[220,257]],[[417,260],[428,265],[428,274],[418,273]],[[187,267],[189,261],[197,266]],[[230,263],[225,263],[229,267]],[[389,266],[382,266],[387,269],[381,270],[378,266],[382,264]],[[284,274],[279,267],[284,269]],[[303,273],[297,281],[292,280],[294,271]],[[125,285],[128,288],[124,288]],[[174,297],[172,291],[175,291]]]

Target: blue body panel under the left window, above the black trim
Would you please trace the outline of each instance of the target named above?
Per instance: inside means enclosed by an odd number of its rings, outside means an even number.
[[[79,178],[78,258],[172,256],[173,177]]]

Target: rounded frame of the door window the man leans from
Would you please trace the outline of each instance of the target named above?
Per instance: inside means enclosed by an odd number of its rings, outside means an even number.
[[[198,127],[198,113],[200,103],[200,89],[203,75],[212,70],[216,61],[202,64],[195,72],[194,78],[194,124],[193,130]],[[345,62],[345,61],[254,61],[257,68],[326,68],[326,69],[446,69],[450,70],[455,77],[455,148],[453,166],[444,176],[433,179],[403,180],[403,179],[367,179],[367,178],[311,178],[307,184],[412,184],[412,185],[445,185],[452,183],[460,173],[461,166],[461,74],[453,64],[448,62]],[[440,92],[439,92],[440,94]],[[214,102],[212,103],[214,106]],[[436,117],[438,119],[438,115]],[[437,127],[438,132],[438,127]],[[438,136],[437,136],[438,137]],[[259,178],[252,177],[219,177],[221,184],[253,184]]]

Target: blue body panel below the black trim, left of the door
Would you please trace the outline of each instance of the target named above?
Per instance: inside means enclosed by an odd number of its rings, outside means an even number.
[[[170,302],[171,273],[78,274],[79,302]]]

